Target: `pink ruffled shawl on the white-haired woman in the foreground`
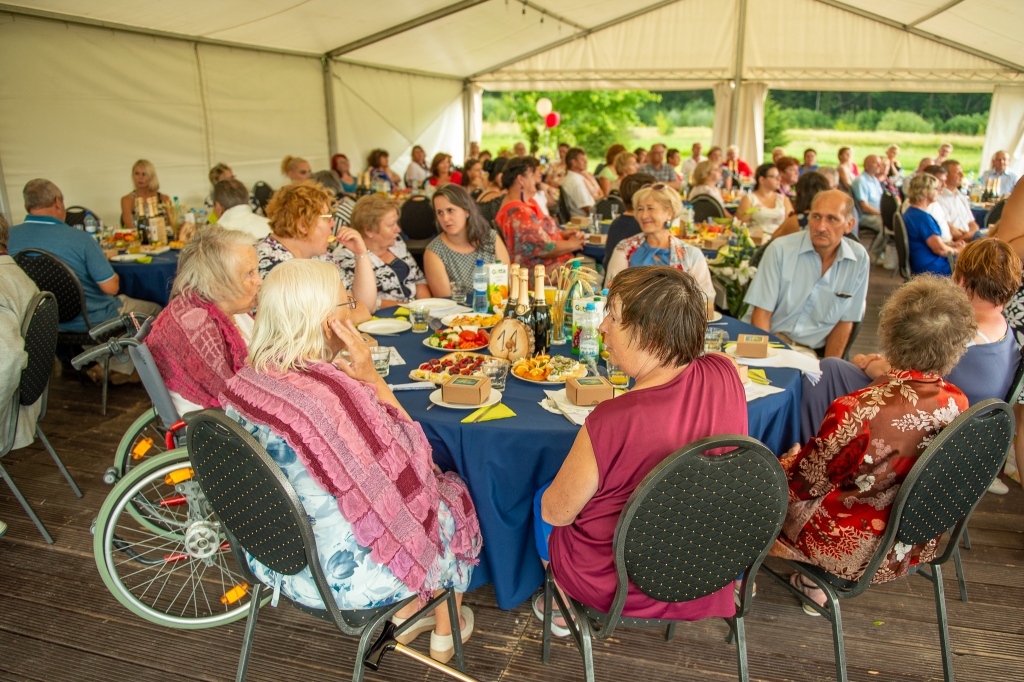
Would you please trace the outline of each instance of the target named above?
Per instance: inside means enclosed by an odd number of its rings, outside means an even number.
[[[455,519],[453,553],[476,563],[480,525],[465,483],[453,472],[434,472],[423,429],[381,402],[373,386],[326,363],[284,374],[247,366],[220,399],[285,438],[337,498],[356,542],[409,589],[429,596],[438,586],[439,500]]]

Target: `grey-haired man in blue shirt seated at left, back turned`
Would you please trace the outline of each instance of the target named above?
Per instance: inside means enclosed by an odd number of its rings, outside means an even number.
[[[22,194],[25,198],[25,210],[29,215],[22,224],[10,229],[11,255],[26,249],[38,249],[62,261],[82,284],[90,324],[99,325],[127,312],[145,315],[160,312],[161,306],[156,303],[118,295],[120,280],[106,261],[99,244],[91,236],[65,222],[67,211],[63,194],[55,184],[42,178],[29,180]],[[82,315],[65,323],[60,329],[70,332],[88,331]],[[131,363],[112,359],[111,370],[131,375],[134,367]],[[97,373],[93,370],[89,372],[89,376],[96,379]],[[102,377],[101,369],[98,377]],[[112,382],[123,383],[121,379],[112,379]]]

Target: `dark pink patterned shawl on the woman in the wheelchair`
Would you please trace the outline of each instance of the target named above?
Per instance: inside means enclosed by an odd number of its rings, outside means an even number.
[[[246,363],[246,342],[227,315],[195,294],[164,308],[145,337],[169,390],[204,409],[219,408],[224,382]]]

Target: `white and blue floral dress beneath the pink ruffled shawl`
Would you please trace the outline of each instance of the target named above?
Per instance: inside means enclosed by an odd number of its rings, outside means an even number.
[[[309,523],[313,526],[324,577],[334,593],[338,608],[377,608],[416,594],[390,568],[374,563],[370,558],[370,548],[362,547],[355,541],[351,523],[338,509],[337,498],[328,494],[310,477],[302,461],[283,437],[270,431],[267,426],[250,422],[229,406],[224,412],[266,450],[302,501]],[[455,535],[455,519],[443,502],[438,503],[437,520],[440,524],[441,545],[444,547],[444,555],[439,562],[439,587],[465,592],[469,588],[473,566],[460,562],[452,552],[450,545]],[[273,588],[276,581],[281,580],[283,595],[309,608],[324,608],[308,566],[295,576],[282,576],[249,554],[246,554],[246,558],[253,574],[264,585]]]

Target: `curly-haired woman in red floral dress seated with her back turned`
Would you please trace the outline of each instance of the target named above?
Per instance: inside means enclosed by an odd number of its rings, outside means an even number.
[[[900,483],[928,443],[967,410],[964,392],[942,377],[977,332],[964,290],[948,278],[920,275],[882,308],[879,336],[892,369],[831,403],[818,435],[786,453],[790,509],[772,554],[846,580],[862,577],[889,522]],[[938,538],[896,543],[872,583],[905,576],[935,556]],[[825,595],[800,573],[794,586],[818,604]],[[804,605],[804,611],[818,615]]]

